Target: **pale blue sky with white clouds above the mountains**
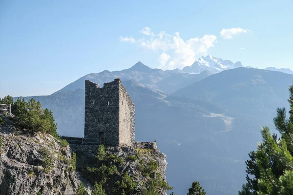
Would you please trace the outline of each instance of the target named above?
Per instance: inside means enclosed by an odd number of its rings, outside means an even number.
[[[181,68],[205,54],[293,69],[292,10],[292,0],[1,0],[0,97],[49,95],[137,61]]]

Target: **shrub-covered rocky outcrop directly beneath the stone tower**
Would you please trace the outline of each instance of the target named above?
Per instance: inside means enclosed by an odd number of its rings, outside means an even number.
[[[71,146],[77,170],[107,195],[167,195],[166,155],[158,149]]]

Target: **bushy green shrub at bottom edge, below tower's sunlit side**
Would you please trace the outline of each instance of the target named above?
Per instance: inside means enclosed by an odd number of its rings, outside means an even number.
[[[133,176],[130,177],[126,172],[122,177],[121,181],[116,181],[116,192],[121,195],[133,195],[137,184],[133,181]]]

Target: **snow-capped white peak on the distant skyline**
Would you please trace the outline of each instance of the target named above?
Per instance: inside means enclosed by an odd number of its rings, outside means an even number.
[[[191,66],[182,69],[183,72],[201,73],[208,70],[211,73],[219,73],[223,70],[243,67],[240,61],[233,63],[231,60],[223,60],[213,56],[202,56],[196,60]]]

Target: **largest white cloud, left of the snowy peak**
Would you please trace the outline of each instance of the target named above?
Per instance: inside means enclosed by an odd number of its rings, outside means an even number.
[[[165,31],[161,31],[156,35],[149,27],[144,27],[140,32],[146,37],[141,39],[120,37],[120,40],[135,43],[145,50],[163,52],[158,58],[158,67],[162,69],[182,69],[190,66],[198,55],[206,55],[217,39],[214,35],[205,35],[202,38],[183,40],[179,36],[179,32],[169,35]]]

